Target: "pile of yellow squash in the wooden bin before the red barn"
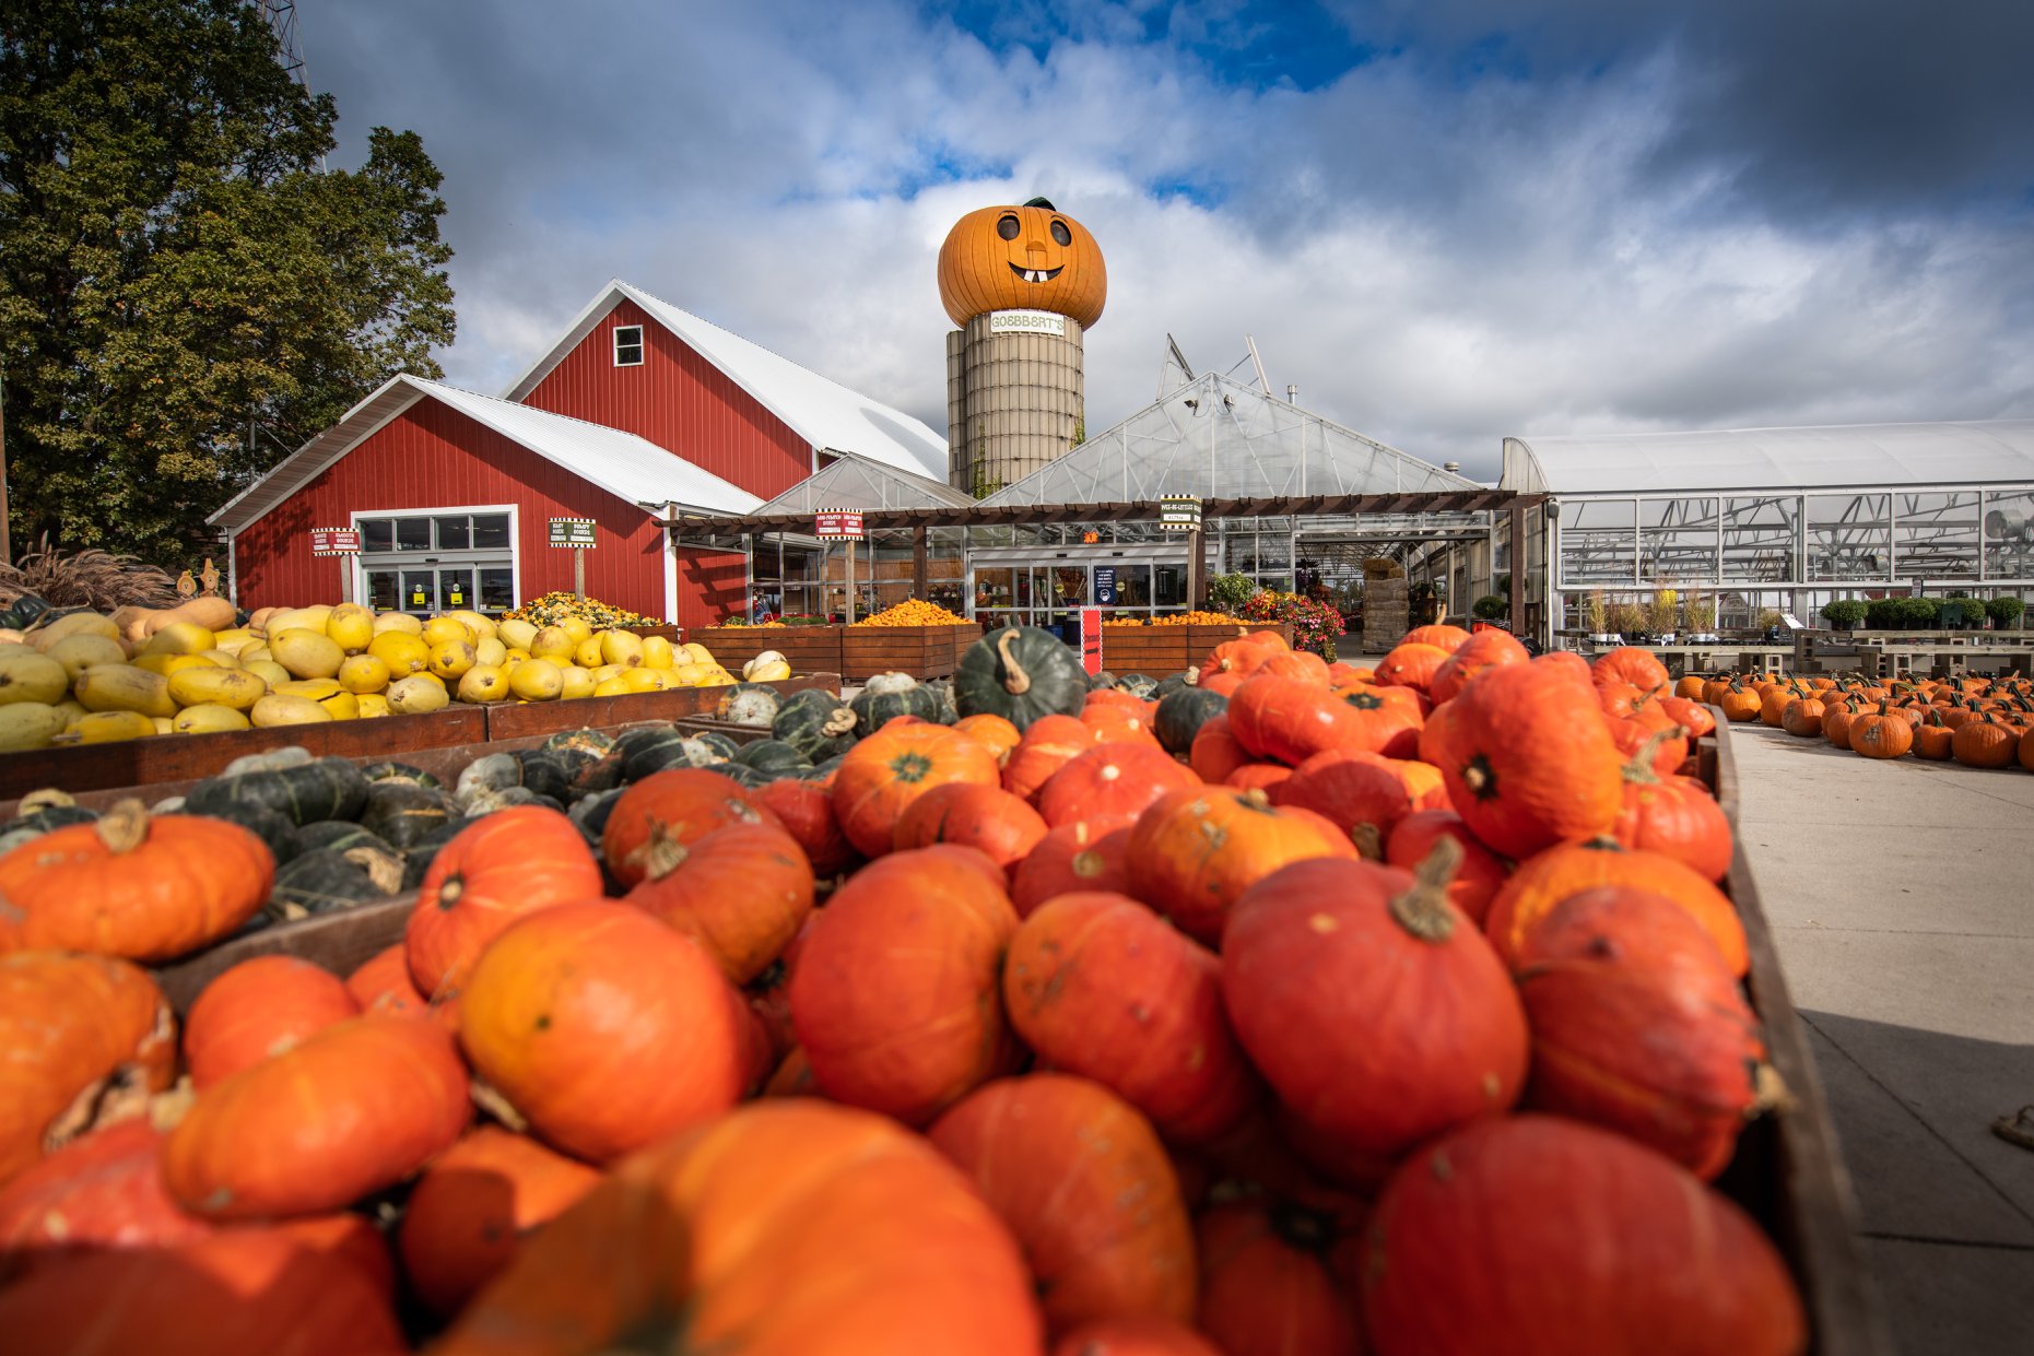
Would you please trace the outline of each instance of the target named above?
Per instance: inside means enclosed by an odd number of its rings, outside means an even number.
[[[787,677],[777,653],[742,667],[759,683]],[[126,626],[73,612],[0,640],[0,752],[734,681],[702,644],[578,616],[537,626],[340,604],[262,608],[238,626],[230,602],[197,598]]]

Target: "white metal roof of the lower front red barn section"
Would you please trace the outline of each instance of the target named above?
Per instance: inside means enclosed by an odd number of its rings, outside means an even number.
[[[702,508],[708,512],[753,512],[763,500],[728,484],[720,476],[685,461],[673,451],[620,429],[608,429],[584,419],[551,415],[527,405],[496,400],[456,386],[427,382],[421,376],[391,376],[374,394],[287,455],[266,476],[242,490],[207,522],[232,533],[242,531],[291,494],[307,486],[370,433],[407,411],[417,400],[439,400],[494,429],[513,443],[555,461],[580,480],[600,486],[631,504],[665,508]]]

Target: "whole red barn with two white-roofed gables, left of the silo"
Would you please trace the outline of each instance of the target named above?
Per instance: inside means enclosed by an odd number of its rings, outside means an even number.
[[[551,518],[592,518],[586,592],[704,626],[746,606],[738,553],[669,543],[679,508],[749,512],[830,449],[944,478],[917,419],[610,283],[504,400],[397,376],[212,522],[242,608],[332,602],[504,610],[572,588]],[[311,529],[356,527],[358,557]]]

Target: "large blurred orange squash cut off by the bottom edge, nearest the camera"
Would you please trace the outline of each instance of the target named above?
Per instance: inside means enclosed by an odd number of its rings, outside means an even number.
[[[1043,1328],[1015,1240],[960,1169],[893,1120],[793,1098],[614,1169],[525,1242],[433,1352],[629,1342],[1037,1356]]]

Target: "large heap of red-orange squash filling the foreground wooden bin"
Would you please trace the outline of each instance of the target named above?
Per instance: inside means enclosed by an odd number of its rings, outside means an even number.
[[[1798,1352],[1786,1265],[1704,1185],[1772,1088],[1729,827],[1678,775],[1704,712],[1656,669],[1239,636],[1153,703],[1003,630],[952,724],[826,779],[653,773],[596,850],[490,813],[397,945],[234,966],[181,1033],[122,943],[228,935],[260,842],[138,805],[47,834],[0,858],[0,949],[73,947],[0,956],[0,1332]]]

